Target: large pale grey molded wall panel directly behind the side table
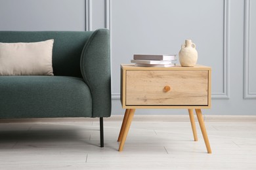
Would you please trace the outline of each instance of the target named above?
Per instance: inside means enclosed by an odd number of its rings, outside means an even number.
[[[200,5],[198,5],[200,4]],[[227,97],[224,36],[227,3],[218,1],[112,1],[112,69],[133,54],[178,54],[185,39],[197,45],[198,63],[213,67],[213,95]],[[112,75],[119,92],[119,73]]]

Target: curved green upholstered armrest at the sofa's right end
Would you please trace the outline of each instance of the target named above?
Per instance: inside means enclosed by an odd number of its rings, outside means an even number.
[[[111,114],[110,32],[97,29],[86,42],[80,60],[81,74],[91,90],[93,117]]]

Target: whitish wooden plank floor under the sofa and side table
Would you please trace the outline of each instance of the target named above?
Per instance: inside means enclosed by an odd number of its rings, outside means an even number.
[[[120,126],[105,119],[100,148],[98,118],[1,120],[0,169],[256,169],[256,116],[206,117],[213,154],[188,116],[135,115],[123,152]]]

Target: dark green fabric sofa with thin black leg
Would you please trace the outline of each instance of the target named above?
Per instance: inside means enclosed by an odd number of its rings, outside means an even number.
[[[54,39],[54,76],[0,76],[0,118],[103,118],[111,114],[110,35],[96,31],[0,31],[0,42]]]

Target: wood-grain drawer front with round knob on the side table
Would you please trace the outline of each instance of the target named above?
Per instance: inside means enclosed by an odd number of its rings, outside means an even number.
[[[125,105],[208,105],[207,70],[127,70],[125,76]]]

